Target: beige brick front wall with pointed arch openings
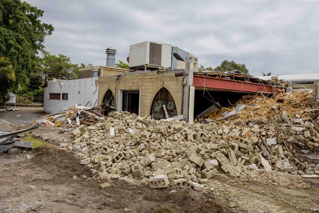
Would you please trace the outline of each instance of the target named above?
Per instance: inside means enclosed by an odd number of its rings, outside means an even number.
[[[116,80],[117,76],[105,76],[99,78],[99,105],[103,102],[104,94],[110,89],[115,95],[116,108],[118,108],[119,90],[140,90],[140,116],[149,115],[153,98],[157,92],[165,87],[173,96],[177,114],[182,114],[183,77],[175,77],[174,72],[156,71],[138,74],[123,75]]]

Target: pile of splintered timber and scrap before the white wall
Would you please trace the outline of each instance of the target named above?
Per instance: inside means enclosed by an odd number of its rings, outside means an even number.
[[[94,125],[100,121],[97,107],[75,106],[68,110],[42,116],[38,123],[48,126],[75,127],[80,124]],[[98,114],[98,115],[97,115]]]

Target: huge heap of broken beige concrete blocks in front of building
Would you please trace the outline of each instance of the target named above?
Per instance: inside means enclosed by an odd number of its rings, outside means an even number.
[[[318,131],[309,119],[297,126],[267,119],[189,124],[111,112],[95,125],[74,129],[69,149],[102,181],[142,178],[153,188],[171,184],[197,190],[221,173],[319,175],[319,168],[298,159],[292,146],[318,147]]]

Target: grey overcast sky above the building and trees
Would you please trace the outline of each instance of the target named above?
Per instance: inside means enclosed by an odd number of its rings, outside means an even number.
[[[205,67],[227,59],[245,63],[255,76],[319,72],[319,1],[27,2],[54,27],[46,50],[73,63],[105,65],[107,47],[126,61],[130,45],[156,41],[192,53]]]

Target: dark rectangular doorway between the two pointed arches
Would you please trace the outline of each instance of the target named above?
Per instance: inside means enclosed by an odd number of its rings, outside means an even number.
[[[138,115],[139,91],[123,91],[122,110]]]

